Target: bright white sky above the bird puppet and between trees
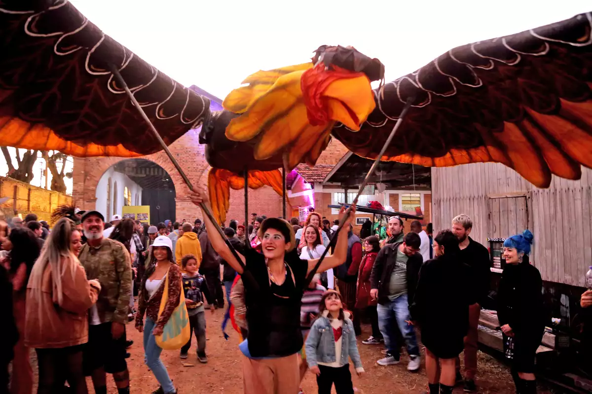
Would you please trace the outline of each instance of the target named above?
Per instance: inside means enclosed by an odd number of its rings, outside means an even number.
[[[388,81],[449,48],[592,11],[590,0],[70,1],[153,66],[220,99],[255,71],[309,61],[323,44],[379,58]]]

